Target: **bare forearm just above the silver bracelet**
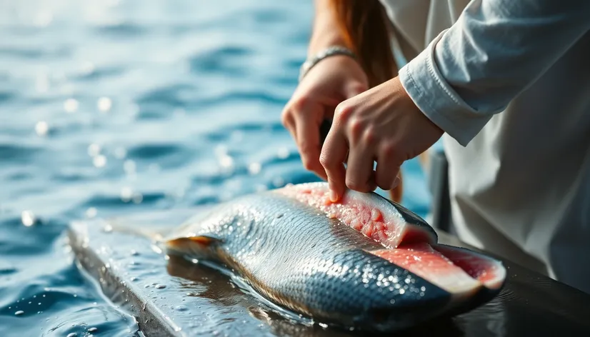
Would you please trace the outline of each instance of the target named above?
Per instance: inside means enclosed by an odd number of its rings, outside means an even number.
[[[309,41],[308,56],[312,56],[329,46],[346,46],[331,2],[331,0],[314,1],[314,26]]]

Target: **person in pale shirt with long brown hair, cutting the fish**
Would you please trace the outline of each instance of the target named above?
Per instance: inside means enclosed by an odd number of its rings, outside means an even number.
[[[590,293],[590,1],[314,7],[281,120],[330,197],[396,191],[441,139],[459,238]]]

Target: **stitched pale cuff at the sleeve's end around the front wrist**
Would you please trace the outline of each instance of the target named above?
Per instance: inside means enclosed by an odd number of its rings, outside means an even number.
[[[466,104],[436,66],[434,46],[445,33],[441,32],[424,51],[399,69],[399,80],[426,117],[466,146],[484,128],[491,115],[479,114]]]

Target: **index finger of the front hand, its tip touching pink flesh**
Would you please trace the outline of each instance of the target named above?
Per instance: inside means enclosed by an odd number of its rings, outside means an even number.
[[[339,201],[344,196],[344,191],[346,191],[344,161],[347,152],[348,145],[344,134],[332,126],[328,136],[326,136],[324,147],[321,149],[319,161],[326,171],[330,187],[330,200],[333,202]]]

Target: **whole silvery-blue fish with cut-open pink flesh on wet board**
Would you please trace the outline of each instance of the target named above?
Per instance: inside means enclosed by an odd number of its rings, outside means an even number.
[[[169,255],[219,266],[279,308],[364,331],[454,316],[504,287],[501,261],[437,241],[399,203],[352,190],[332,202],[325,182],[219,203],[163,240]]]

